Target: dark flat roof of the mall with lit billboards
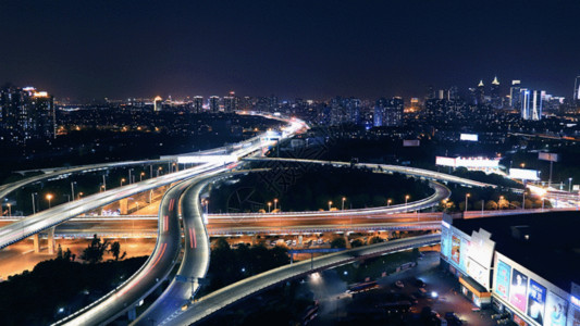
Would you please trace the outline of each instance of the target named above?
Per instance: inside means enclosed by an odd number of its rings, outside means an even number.
[[[563,290],[580,284],[580,211],[454,220],[471,235],[492,234],[495,250]]]

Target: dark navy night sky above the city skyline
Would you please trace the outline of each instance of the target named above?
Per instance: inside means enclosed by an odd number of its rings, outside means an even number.
[[[55,97],[570,97],[580,1],[0,1],[0,83]]]

